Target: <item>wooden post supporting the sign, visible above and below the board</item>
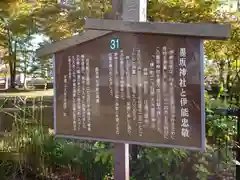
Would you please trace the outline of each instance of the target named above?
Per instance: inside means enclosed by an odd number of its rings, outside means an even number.
[[[114,19],[146,21],[147,0],[112,0]],[[129,144],[114,144],[114,179],[130,180]]]

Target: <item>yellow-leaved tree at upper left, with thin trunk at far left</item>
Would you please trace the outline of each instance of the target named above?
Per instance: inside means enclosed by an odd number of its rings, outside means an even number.
[[[86,16],[102,16],[110,8],[110,1],[79,1],[75,9],[69,10],[52,0],[2,0],[0,7],[0,47],[6,52],[10,88],[15,88],[17,51],[23,39],[36,33],[45,35],[50,42],[70,37],[83,31]]]

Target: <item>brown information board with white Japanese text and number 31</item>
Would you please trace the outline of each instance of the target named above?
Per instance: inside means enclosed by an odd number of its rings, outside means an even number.
[[[199,38],[114,32],[55,54],[55,133],[203,149]]]

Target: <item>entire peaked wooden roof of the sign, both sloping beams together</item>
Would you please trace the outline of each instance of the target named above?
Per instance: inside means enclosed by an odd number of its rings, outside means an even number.
[[[226,40],[230,36],[230,24],[191,24],[133,22],[109,19],[86,19],[87,31],[37,49],[36,56],[51,55],[72,46],[107,35],[113,31],[153,33],[161,35],[194,36],[202,39]]]

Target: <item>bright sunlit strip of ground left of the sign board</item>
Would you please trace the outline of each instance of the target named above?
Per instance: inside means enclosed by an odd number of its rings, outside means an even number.
[[[53,96],[53,89],[48,90],[34,90],[34,91],[19,91],[19,92],[0,92],[0,97],[41,97],[41,96]]]

